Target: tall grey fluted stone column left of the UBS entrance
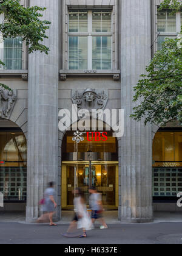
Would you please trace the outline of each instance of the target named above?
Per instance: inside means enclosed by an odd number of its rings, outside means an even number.
[[[39,216],[38,202],[50,181],[58,182],[58,74],[59,0],[30,0],[30,6],[46,7],[51,21],[44,44],[49,55],[29,55],[27,213],[31,222]],[[57,188],[56,184],[56,188]]]

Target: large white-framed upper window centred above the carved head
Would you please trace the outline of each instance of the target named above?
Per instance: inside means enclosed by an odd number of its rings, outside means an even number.
[[[69,69],[112,69],[112,12],[69,12]]]

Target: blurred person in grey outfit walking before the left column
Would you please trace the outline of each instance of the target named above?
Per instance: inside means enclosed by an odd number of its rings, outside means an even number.
[[[50,226],[57,226],[53,223],[53,215],[55,214],[57,204],[55,202],[56,191],[54,189],[55,183],[49,182],[49,187],[44,192],[44,199],[41,200],[42,210],[45,212],[37,222],[44,222],[49,219]]]

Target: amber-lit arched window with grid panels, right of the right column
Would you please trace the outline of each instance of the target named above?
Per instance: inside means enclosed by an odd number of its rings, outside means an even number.
[[[182,129],[160,128],[153,139],[153,203],[155,211],[176,211],[182,191]]]

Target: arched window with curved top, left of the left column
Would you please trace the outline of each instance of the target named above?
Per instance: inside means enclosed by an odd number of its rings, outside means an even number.
[[[12,121],[0,119],[1,211],[24,211],[27,200],[27,140]]]

